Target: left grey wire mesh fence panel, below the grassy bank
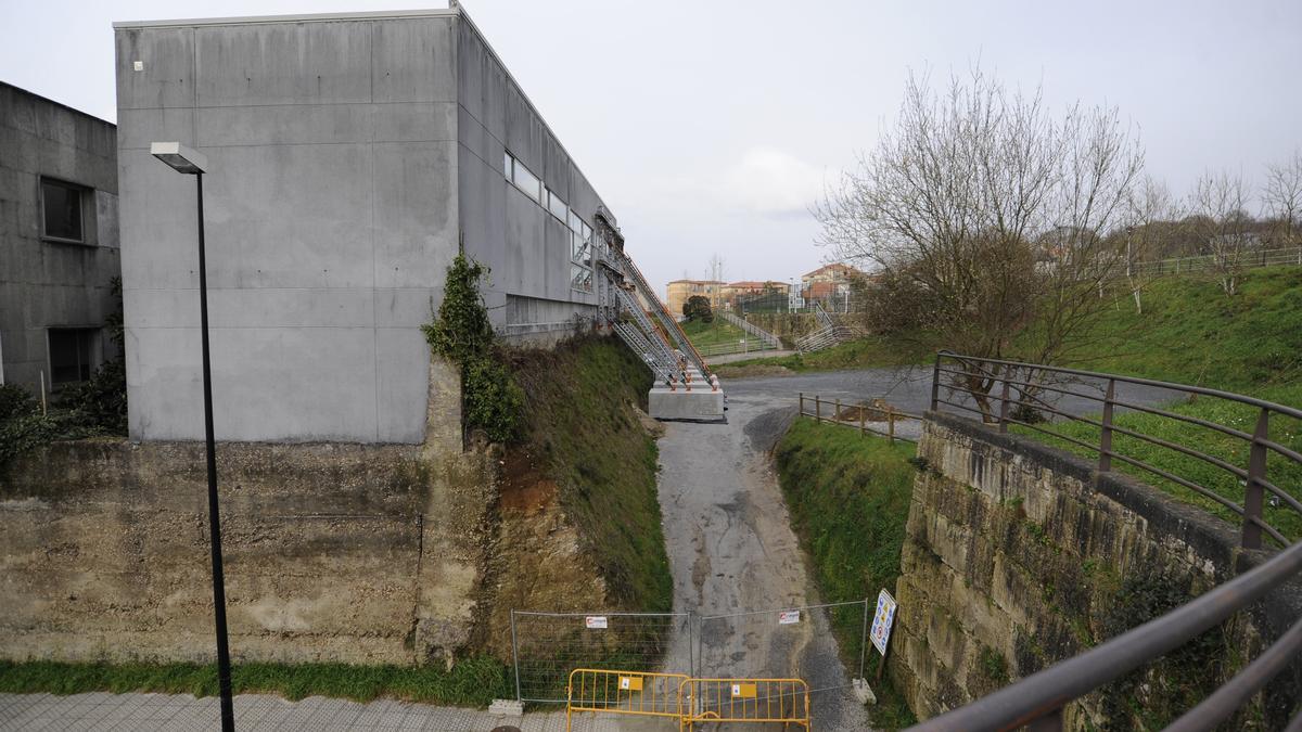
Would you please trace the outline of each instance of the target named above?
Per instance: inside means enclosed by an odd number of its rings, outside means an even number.
[[[510,612],[516,698],[566,703],[570,675],[583,669],[651,673],[691,668],[691,616],[686,612]],[[685,638],[686,658],[669,659]],[[677,663],[680,668],[667,668]]]

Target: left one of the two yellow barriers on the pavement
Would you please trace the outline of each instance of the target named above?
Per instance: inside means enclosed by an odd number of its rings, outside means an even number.
[[[574,712],[681,719],[686,681],[684,673],[575,668],[566,692],[565,731],[569,732]]]

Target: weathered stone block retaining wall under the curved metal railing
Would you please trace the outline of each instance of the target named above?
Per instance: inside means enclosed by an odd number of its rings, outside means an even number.
[[[1237,548],[1230,526],[1193,507],[971,421],[928,414],[918,457],[891,668],[922,718],[1138,625],[1154,611],[1154,595],[1173,589],[1174,602],[1184,602],[1263,560]],[[1141,683],[1069,705],[1068,722],[1151,722],[1143,715],[1160,716],[1172,696],[1230,676],[1299,615],[1302,586],[1294,582],[1200,647],[1155,664]],[[1240,722],[1282,725],[1299,689],[1302,663]]]

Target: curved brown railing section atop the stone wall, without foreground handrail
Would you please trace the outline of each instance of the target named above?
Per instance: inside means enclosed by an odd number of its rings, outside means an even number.
[[[1072,386],[1088,384],[1085,388],[1070,388]],[[1157,387],[1168,389],[1172,400],[1184,396],[1211,397],[1225,402],[1245,405],[1256,412],[1253,432],[1221,425],[1210,419],[1180,414],[1169,409],[1126,401],[1117,396],[1118,384],[1133,384],[1139,387]],[[997,387],[997,391],[996,391]],[[1099,393],[1101,387],[1101,395]],[[963,399],[949,400],[940,397],[940,389],[947,388],[949,393],[963,395],[971,404],[963,404]],[[1042,396],[1044,395],[1044,396]],[[1081,415],[1060,409],[1049,401],[1049,396],[1070,397],[1085,400],[1090,405],[1096,405],[1098,417]],[[1101,374],[1096,371],[1082,371],[1078,369],[1062,369],[1057,366],[1044,366],[1039,363],[1022,363],[1018,361],[1001,361],[997,358],[976,358],[960,356],[948,352],[936,354],[932,374],[931,409],[937,410],[940,405],[950,406],[966,413],[978,414],[987,423],[993,423],[1000,432],[1008,431],[1009,425],[1019,425],[1027,430],[1048,435],[1052,439],[1062,440],[1068,444],[1085,448],[1098,455],[1098,469],[1100,473],[1112,472],[1113,461],[1130,465],[1147,474],[1156,475],[1187,488],[1216,504],[1229,509],[1241,517],[1242,546],[1245,548],[1262,548],[1262,535],[1267,535],[1280,546],[1288,546],[1289,539],[1269,525],[1263,509],[1267,494],[1272,505],[1282,504],[1302,514],[1302,501],[1284,488],[1276,486],[1267,478],[1267,462],[1271,455],[1282,458],[1288,464],[1302,465],[1302,453],[1289,445],[1280,444],[1271,439],[1271,417],[1285,417],[1302,419],[1302,409],[1275,404],[1271,401],[1230,393],[1220,389],[1204,387],[1191,387],[1159,382],[1156,379],[1141,379],[1135,376],[1120,376],[1116,374]],[[1034,413],[1047,413],[1068,422],[1088,425],[1098,430],[1098,442],[1083,440],[1062,430],[1055,430],[1055,422],[1036,422],[1018,418],[1013,408],[1029,408]],[[1240,440],[1247,448],[1249,458],[1245,465],[1236,465],[1226,457],[1210,455],[1187,444],[1146,434],[1138,429],[1118,425],[1115,419],[1117,409],[1128,409],[1143,414],[1152,414],[1163,421],[1174,421],[1184,425],[1194,425],[1212,432],[1225,435],[1233,440]],[[1135,455],[1128,455],[1115,444],[1115,436],[1124,436],[1135,440],[1135,445],[1156,445],[1170,453],[1199,460],[1211,465],[1226,475],[1234,485],[1242,485],[1243,499],[1237,503],[1221,495],[1211,486],[1198,482],[1191,475],[1180,475],[1150,461],[1141,460]]]

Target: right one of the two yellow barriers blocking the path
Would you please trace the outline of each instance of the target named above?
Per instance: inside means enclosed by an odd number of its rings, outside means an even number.
[[[682,725],[751,722],[810,728],[810,688],[799,679],[687,679]]]

